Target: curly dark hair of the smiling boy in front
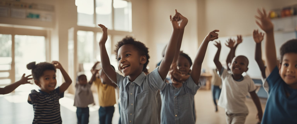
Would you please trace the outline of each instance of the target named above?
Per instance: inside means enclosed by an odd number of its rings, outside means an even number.
[[[130,37],[130,36],[126,36],[124,37],[121,41],[119,41],[116,44],[116,57],[118,56],[118,51],[121,48],[121,46],[126,45],[126,44],[131,44],[134,46],[134,48],[136,50],[138,50],[138,54],[140,56],[146,56],[146,63],[143,64],[143,69],[146,69],[146,66],[149,64],[149,48],[146,47],[146,45],[144,45],[143,43],[141,43],[140,41],[136,41],[135,38]],[[117,58],[116,58],[117,59]]]

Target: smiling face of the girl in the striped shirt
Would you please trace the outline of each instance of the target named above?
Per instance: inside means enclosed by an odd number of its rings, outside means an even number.
[[[34,82],[40,87],[41,91],[49,93],[55,90],[57,85],[56,73],[54,70],[45,70],[43,76],[39,78],[39,81],[35,80]]]

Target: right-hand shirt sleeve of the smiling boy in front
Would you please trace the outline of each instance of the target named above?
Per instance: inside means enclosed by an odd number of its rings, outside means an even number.
[[[159,67],[155,68],[151,73],[148,74],[149,84],[155,88],[155,90],[163,90],[166,86],[165,80],[162,80],[159,74]]]

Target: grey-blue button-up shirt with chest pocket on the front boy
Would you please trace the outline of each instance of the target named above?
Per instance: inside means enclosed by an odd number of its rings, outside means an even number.
[[[159,68],[159,67],[158,67]],[[121,123],[157,124],[157,92],[164,89],[165,82],[159,75],[158,68],[145,75],[143,72],[129,81],[117,73],[117,85],[120,89]]]

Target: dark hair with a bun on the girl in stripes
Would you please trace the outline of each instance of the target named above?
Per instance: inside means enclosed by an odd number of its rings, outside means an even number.
[[[39,78],[43,75],[43,72],[46,70],[54,70],[56,73],[55,66],[48,62],[40,62],[38,64],[36,64],[36,62],[30,62],[27,64],[27,69],[32,70],[34,80],[39,80]]]

